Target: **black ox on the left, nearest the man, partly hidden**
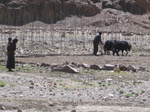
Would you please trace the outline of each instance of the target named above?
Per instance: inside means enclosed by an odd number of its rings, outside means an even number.
[[[107,40],[104,44],[104,54],[108,54],[108,51],[112,51],[113,50],[113,44],[116,42],[117,40]]]

